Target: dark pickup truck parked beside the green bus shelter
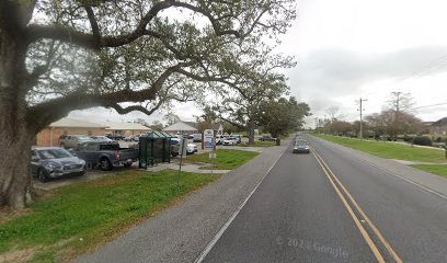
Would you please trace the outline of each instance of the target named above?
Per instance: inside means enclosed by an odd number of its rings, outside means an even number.
[[[116,141],[88,141],[81,144],[73,152],[87,163],[99,165],[103,171],[112,170],[119,164],[130,167],[139,158],[138,149],[121,148]]]

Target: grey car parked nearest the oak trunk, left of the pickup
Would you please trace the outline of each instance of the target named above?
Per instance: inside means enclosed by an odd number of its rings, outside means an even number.
[[[66,175],[85,174],[85,161],[59,147],[35,147],[31,150],[31,173],[41,182]]]

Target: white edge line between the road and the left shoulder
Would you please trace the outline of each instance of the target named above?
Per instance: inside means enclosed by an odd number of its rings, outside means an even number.
[[[280,153],[278,159],[272,164],[271,168],[268,168],[267,172],[262,176],[260,182],[254,186],[253,191],[247,196],[247,198],[242,202],[242,204],[239,205],[238,209],[231,215],[231,217],[227,220],[227,222],[220,228],[220,230],[216,233],[216,236],[209,241],[209,243],[206,245],[205,250],[202,251],[199,256],[194,261],[195,263],[202,263],[203,260],[208,255],[209,251],[215,247],[217,241],[222,237],[224,232],[227,230],[227,228],[231,225],[231,222],[234,220],[234,218],[239,215],[239,213],[242,210],[242,208],[245,206],[247,202],[251,198],[251,196],[256,192],[257,187],[261,185],[261,183],[264,181],[264,179],[267,176],[267,174],[272,171],[272,169],[276,165],[276,162],[284,156],[284,153],[288,150],[289,146],[287,146],[286,150]]]

